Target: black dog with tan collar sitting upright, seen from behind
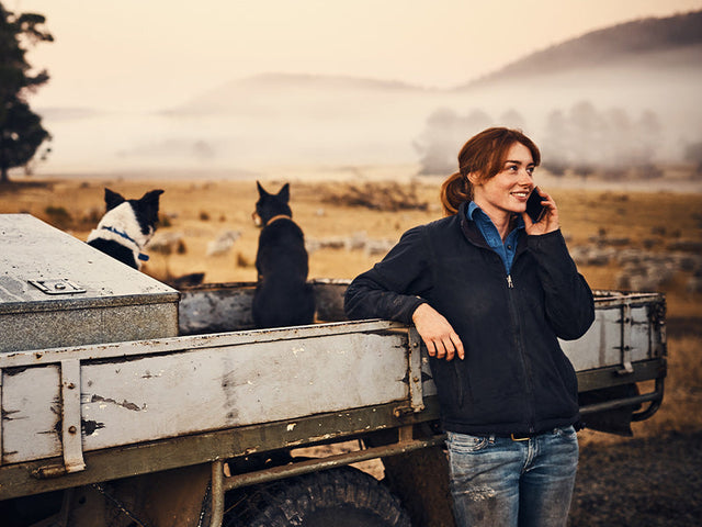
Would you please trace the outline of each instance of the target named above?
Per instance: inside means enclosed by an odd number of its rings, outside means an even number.
[[[288,205],[290,184],[269,194],[257,181],[259,201],[254,223],[262,227],[256,269],[259,274],[253,295],[256,327],[312,324],[315,295],[307,283],[308,260],[305,236],[293,222]]]

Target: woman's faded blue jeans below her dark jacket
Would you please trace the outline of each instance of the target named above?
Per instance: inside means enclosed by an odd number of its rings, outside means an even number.
[[[457,527],[563,527],[568,519],[578,437],[556,428],[524,441],[449,433]]]

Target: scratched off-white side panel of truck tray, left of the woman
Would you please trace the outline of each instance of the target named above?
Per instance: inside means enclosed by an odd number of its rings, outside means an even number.
[[[25,396],[23,380],[52,370],[53,360],[92,356],[80,369],[82,448],[90,451],[392,401],[409,405],[407,332],[389,330],[394,326],[329,324],[249,332],[248,338],[179,337],[57,349],[41,357],[25,351],[1,356],[0,367],[37,365],[13,375]],[[46,426],[55,425],[59,395],[58,383],[52,384],[54,390],[43,397],[33,394],[24,406],[3,397],[3,411],[15,416],[2,430],[7,444],[14,445],[3,452],[5,462],[61,453],[60,441],[44,440],[37,449],[26,440],[60,431]]]

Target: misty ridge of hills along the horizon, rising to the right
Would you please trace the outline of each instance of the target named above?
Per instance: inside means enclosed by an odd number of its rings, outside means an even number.
[[[661,94],[675,97],[680,87],[700,88],[700,65],[702,11],[593,31],[454,89],[342,76],[265,74],[229,81],[169,113],[325,122],[373,116],[378,121],[401,114],[400,121],[407,123],[405,112],[419,112],[426,119],[427,112],[441,106],[468,111],[472,108],[466,104],[472,104],[492,114],[513,109],[546,112],[554,104],[573,104],[576,98],[601,98],[602,104],[624,104],[636,111],[653,104],[657,111]],[[462,99],[462,93],[469,99]],[[678,96],[690,97],[688,91]]]

